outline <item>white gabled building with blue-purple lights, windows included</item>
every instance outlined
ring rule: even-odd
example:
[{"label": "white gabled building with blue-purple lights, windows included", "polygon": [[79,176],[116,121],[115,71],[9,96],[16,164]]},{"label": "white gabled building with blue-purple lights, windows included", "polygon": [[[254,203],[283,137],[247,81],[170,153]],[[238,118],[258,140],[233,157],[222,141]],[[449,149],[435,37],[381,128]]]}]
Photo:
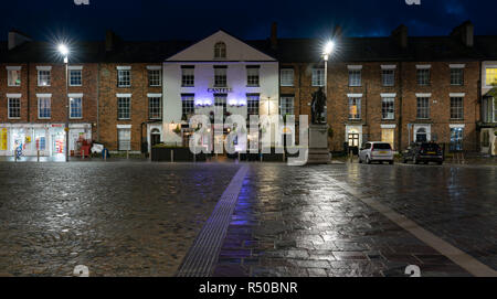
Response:
[{"label": "white gabled building with blue-purple lights, windows included", "polygon": [[245,119],[278,115],[278,83],[276,58],[218,31],[163,63],[162,140],[182,143],[184,130],[179,134],[177,129],[190,116],[210,116],[215,107]]}]

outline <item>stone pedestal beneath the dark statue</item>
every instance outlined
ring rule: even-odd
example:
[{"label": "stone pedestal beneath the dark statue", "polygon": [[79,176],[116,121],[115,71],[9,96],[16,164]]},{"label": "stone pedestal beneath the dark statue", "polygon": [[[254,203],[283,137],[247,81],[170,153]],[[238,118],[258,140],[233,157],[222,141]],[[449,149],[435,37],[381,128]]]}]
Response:
[{"label": "stone pedestal beneath the dark statue", "polygon": [[307,164],[328,164],[330,158],[328,148],[328,125],[310,125]]}]

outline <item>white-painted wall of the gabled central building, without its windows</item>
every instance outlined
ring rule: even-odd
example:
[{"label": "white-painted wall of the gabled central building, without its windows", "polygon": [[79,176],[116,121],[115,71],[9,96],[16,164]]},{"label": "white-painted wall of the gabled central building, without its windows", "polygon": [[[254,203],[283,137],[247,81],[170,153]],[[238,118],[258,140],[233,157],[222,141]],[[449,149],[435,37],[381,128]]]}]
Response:
[{"label": "white-painted wall of the gabled central building, without its windows", "polygon": [[[216,43],[226,46],[225,58],[214,58]],[[194,87],[182,87],[182,67],[194,67]],[[194,95],[195,114],[210,115],[214,111],[214,66],[226,67],[226,111],[232,115],[247,115],[247,94],[258,94],[260,115],[279,114],[278,62],[251,45],[218,31],[211,36],[171,56],[163,63],[163,135],[166,143],[182,141],[172,130],[182,120],[182,95]],[[260,85],[247,86],[247,66],[257,66]]]}]

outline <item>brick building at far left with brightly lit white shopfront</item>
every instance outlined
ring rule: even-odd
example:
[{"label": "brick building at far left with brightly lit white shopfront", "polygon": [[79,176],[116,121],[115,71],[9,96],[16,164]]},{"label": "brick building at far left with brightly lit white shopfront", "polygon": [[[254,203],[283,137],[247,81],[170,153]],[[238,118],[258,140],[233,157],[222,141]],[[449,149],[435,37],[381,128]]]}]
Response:
[{"label": "brick building at far left with brightly lit white shopfront", "polygon": [[[97,122],[97,70],[92,43],[78,43],[67,67],[52,45],[9,33],[0,52],[0,156],[64,156],[70,111],[70,151],[92,140]],[[88,57],[96,58],[95,61]],[[83,63],[84,62],[84,63]],[[67,109],[67,102],[71,108]]]}]

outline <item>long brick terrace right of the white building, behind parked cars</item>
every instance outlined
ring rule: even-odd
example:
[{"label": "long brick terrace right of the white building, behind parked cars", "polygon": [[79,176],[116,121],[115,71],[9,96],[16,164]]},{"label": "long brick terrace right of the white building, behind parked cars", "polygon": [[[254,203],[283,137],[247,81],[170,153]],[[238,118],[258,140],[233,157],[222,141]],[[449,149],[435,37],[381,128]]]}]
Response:
[{"label": "long brick terrace right of the white building, behind parked cars", "polygon": [[[450,36],[345,38],[337,30],[328,62],[330,149],[387,141],[396,150],[433,140],[453,150],[478,149],[480,52],[473,25]],[[325,85],[318,40],[278,39],[282,99],[310,114],[311,94]]]}]

